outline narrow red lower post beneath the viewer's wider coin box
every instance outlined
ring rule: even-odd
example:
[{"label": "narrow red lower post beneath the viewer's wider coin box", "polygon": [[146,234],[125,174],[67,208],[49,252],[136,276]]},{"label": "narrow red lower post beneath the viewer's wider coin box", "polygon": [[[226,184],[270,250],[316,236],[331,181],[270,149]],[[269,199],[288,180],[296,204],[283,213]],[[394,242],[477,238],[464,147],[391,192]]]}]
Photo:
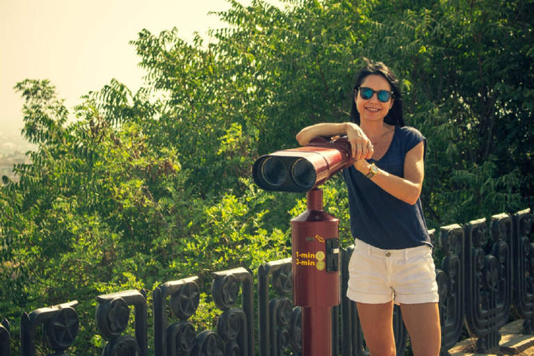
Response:
[{"label": "narrow red lower post beneath the viewer's wider coin box", "polygon": [[302,356],[332,355],[332,308],[302,307]]}]

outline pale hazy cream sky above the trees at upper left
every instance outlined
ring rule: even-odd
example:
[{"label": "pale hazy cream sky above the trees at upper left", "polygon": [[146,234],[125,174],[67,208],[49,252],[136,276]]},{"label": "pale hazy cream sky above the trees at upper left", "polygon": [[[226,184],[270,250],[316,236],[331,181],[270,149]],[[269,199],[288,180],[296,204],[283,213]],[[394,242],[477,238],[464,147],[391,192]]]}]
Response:
[{"label": "pale hazy cream sky above the trees at upper left", "polygon": [[128,42],[142,29],[207,40],[208,29],[225,26],[209,11],[229,8],[226,0],[0,0],[0,131],[22,128],[17,82],[49,79],[71,113],[112,78],[135,92],[145,71]]}]

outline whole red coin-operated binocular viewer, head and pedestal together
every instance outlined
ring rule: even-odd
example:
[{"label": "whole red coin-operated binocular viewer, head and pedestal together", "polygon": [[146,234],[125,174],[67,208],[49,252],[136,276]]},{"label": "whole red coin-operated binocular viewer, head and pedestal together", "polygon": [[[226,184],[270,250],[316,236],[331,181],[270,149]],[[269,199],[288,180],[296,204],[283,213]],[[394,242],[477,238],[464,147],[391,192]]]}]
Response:
[{"label": "whole red coin-operated binocular viewer, head and pedestal together", "polygon": [[317,188],[353,164],[346,138],[314,138],[305,147],[261,156],[252,168],[266,191],[307,192],[307,210],[291,220],[293,304],[302,307],[302,355],[332,355],[332,307],[339,305],[339,219],[323,211]]}]

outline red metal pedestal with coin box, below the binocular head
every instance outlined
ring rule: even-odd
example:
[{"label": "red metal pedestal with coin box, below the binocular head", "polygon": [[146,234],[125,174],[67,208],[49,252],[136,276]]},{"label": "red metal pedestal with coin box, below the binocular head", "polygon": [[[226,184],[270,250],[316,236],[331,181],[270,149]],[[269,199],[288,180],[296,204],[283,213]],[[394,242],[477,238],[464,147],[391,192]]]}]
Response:
[{"label": "red metal pedestal with coin box, below the binocular head", "polygon": [[323,211],[323,191],[291,220],[293,304],[302,307],[302,356],[332,355],[332,307],[339,305],[339,219]]}]

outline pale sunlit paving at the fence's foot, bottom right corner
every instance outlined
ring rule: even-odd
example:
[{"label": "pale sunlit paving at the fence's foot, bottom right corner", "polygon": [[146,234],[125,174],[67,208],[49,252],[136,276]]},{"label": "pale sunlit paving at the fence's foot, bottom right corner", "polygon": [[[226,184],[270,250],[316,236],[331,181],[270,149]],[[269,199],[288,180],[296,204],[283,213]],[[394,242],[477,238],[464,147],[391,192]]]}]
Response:
[{"label": "pale sunlit paving at the fence's foot, bottom right corner", "polygon": [[523,321],[518,320],[501,329],[501,347],[494,353],[475,353],[476,339],[465,339],[449,350],[451,356],[471,356],[471,355],[534,355],[533,352],[525,353],[534,346],[534,335],[521,334]]}]

